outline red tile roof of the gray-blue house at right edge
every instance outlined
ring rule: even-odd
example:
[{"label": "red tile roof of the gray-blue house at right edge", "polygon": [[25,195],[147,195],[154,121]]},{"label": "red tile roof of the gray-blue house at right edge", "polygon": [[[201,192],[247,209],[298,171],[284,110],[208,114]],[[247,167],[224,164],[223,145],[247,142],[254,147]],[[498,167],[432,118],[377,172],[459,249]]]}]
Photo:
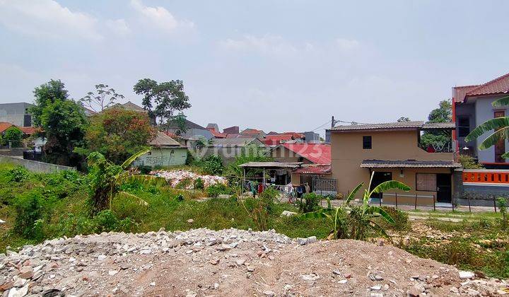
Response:
[{"label": "red tile roof of the gray-blue house at right edge", "polygon": [[504,74],[479,86],[455,87],[455,102],[463,102],[468,97],[507,93],[509,93],[509,74]]}]

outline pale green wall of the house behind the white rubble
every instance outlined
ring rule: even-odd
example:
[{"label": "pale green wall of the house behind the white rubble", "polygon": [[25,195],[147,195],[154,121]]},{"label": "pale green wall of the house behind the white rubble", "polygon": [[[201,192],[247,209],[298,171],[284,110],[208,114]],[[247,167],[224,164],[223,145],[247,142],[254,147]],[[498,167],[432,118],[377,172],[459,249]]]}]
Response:
[{"label": "pale green wall of the house behind the white rubble", "polygon": [[184,165],[187,159],[187,148],[153,148],[150,153],[134,161],[135,166],[172,166]]}]

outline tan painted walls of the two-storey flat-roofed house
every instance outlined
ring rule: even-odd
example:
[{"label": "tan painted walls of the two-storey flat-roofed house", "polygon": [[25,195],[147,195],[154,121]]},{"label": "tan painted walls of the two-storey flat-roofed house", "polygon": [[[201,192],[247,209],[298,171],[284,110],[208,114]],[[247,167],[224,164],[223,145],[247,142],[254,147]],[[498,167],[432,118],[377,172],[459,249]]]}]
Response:
[{"label": "tan painted walls of the two-storey flat-roofed house", "polygon": [[[363,149],[363,136],[372,136],[372,149]],[[332,177],[337,179],[338,192],[343,194],[352,190],[359,182],[368,185],[370,172],[361,168],[364,159],[407,160],[419,161],[452,161],[453,153],[428,153],[418,146],[417,131],[390,132],[333,132],[332,146]],[[399,177],[399,169],[378,169],[381,172],[392,172],[394,180],[405,182],[415,194],[415,173],[450,173],[450,169],[404,169],[404,177]],[[432,192],[417,192],[421,195]],[[358,193],[361,197],[361,192]]]}]

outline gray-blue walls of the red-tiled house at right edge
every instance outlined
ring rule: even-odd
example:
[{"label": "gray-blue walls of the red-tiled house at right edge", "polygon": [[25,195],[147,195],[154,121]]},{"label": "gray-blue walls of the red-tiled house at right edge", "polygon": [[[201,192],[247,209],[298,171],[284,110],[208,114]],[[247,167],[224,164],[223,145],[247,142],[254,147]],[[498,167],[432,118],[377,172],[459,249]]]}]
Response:
[{"label": "gray-blue walls of the red-tiled house at right edge", "polygon": [[[475,119],[476,119],[475,122],[476,122],[476,124],[482,124],[482,123],[486,122],[487,120],[493,119],[493,113],[496,110],[504,110],[505,116],[506,117],[509,116],[507,107],[496,107],[495,108],[495,107],[493,107],[493,105],[491,105],[491,103],[493,103],[493,101],[495,101],[501,97],[502,96],[493,96],[493,97],[482,97],[482,98],[473,99],[473,100],[475,100]],[[476,146],[479,147],[481,145],[482,141],[484,141],[484,139],[486,139],[486,137],[488,137],[489,135],[490,135],[489,133],[486,133],[483,136],[479,137],[477,139]],[[506,140],[505,141],[505,151],[507,152],[508,150],[509,150],[509,142]],[[484,151],[477,150],[477,156],[479,158],[480,163],[495,162],[495,148],[494,148],[494,146],[491,146],[491,148],[488,148]],[[507,160],[506,160],[506,162],[507,162]]]}]

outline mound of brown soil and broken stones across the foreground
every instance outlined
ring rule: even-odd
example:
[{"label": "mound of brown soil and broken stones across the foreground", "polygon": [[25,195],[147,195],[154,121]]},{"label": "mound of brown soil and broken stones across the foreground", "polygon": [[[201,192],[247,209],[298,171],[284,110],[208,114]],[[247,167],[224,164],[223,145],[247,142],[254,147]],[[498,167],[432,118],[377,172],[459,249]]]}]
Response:
[{"label": "mound of brown soil and broken stones across the foreground", "polygon": [[23,296],[497,296],[479,279],[392,246],[195,229],[47,240],[0,254],[0,292]]}]

